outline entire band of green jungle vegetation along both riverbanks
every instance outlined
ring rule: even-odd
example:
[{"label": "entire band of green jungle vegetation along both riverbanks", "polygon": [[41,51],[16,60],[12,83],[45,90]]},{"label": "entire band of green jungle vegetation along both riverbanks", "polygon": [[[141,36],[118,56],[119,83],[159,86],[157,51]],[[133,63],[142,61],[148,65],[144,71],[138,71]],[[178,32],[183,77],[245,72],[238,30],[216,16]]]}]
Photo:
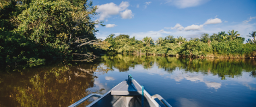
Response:
[{"label": "entire band of green jungle vegetation along both riverbanks", "polygon": [[[5,0],[0,2],[0,63],[17,65],[45,61],[92,61],[95,53],[128,53],[189,57],[238,57],[256,55],[253,39],[241,38],[237,31],[226,34],[202,34],[201,38],[166,36],[156,42],[151,37],[110,34],[106,40],[96,38],[93,21],[97,7],[82,0]],[[81,60],[77,60],[81,61]]]}]

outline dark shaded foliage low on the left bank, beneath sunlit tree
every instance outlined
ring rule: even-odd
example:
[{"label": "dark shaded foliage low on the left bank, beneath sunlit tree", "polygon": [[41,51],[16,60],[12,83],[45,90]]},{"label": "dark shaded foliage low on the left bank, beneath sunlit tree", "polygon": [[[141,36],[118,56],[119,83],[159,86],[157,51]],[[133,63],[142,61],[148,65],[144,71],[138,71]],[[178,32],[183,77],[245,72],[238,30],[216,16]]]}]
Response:
[{"label": "dark shaded foliage low on the left bank, beneath sunlit tree", "polygon": [[[45,59],[65,57],[65,48],[55,48],[54,45],[41,45],[26,40],[24,36],[0,30],[0,61],[1,63],[42,63]],[[69,51],[68,51],[69,52]],[[36,60],[30,60],[36,59]]]}]

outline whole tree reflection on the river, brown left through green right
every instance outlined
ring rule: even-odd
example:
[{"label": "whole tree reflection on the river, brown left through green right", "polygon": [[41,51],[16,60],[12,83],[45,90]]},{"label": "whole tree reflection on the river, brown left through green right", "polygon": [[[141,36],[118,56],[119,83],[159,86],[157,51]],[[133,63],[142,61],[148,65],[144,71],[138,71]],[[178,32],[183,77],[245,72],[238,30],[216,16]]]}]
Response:
[{"label": "whole tree reflection on the river, brown left through green right", "polygon": [[[113,69],[129,71],[135,65],[151,69],[157,65],[168,73],[176,69],[185,72],[239,77],[243,71],[256,77],[255,59],[181,59],[146,55],[103,56],[101,61],[80,65],[53,65],[30,69],[0,70],[0,106],[69,106],[91,94],[97,74]],[[13,71],[14,70],[14,71]],[[104,89],[95,90],[102,93]],[[85,105],[90,101],[84,102]]]}]

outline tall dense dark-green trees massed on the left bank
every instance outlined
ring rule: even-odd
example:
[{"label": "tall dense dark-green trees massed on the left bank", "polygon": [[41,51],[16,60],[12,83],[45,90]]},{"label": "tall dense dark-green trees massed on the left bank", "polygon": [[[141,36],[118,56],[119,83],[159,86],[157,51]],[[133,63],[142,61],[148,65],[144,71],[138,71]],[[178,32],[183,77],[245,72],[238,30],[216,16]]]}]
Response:
[{"label": "tall dense dark-green trees massed on the left bank", "polygon": [[[22,0],[0,2],[0,63],[94,59],[108,47],[96,38],[96,6],[82,0]],[[90,60],[90,59],[88,59]]]}]

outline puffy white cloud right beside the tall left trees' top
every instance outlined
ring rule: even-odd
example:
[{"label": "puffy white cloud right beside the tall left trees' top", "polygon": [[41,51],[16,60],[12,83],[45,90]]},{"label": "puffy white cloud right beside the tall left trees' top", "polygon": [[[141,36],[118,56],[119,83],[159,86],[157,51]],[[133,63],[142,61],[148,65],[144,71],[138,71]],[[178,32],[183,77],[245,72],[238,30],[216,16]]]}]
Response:
[{"label": "puffy white cloud right beside the tall left trees' top", "polygon": [[98,20],[105,20],[106,18],[110,17],[110,15],[117,15],[124,10],[126,11],[127,7],[129,7],[129,2],[127,1],[122,1],[120,5],[116,5],[112,2],[103,5],[98,5],[98,9],[96,10],[96,12],[100,13]]}]

